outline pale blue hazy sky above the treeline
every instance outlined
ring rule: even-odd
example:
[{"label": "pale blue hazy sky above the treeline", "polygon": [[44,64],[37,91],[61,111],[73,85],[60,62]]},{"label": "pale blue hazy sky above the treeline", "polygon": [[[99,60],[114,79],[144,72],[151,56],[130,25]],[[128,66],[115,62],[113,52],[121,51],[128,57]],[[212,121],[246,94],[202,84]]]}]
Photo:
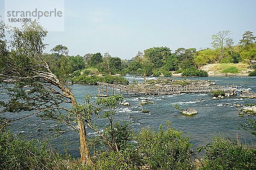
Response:
[{"label": "pale blue hazy sky above the treeline", "polygon": [[244,31],[256,34],[255,6],[256,0],[65,0],[64,31],[48,32],[45,52],[62,44],[69,55],[109,51],[131,59],[157,46],[211,48],[212,34],[223,30],[237,44]]}]

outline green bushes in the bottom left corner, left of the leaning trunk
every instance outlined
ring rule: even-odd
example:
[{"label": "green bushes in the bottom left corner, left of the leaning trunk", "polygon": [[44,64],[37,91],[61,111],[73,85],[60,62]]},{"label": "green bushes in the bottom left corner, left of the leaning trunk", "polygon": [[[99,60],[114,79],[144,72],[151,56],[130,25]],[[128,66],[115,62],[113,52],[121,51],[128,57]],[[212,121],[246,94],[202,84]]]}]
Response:
[{"label": "green bushes in the bottom left corner, left of the leaning trunk", "polygon": [[65,170],[70,156],[47,150],[38,140],[25,141],[10,132],[0,133],[1,170]]}]

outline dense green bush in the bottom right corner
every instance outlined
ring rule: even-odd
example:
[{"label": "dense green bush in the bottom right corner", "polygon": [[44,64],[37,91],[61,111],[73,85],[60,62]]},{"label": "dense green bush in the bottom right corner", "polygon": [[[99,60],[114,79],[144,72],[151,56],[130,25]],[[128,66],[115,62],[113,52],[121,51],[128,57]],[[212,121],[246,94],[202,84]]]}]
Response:
[{"label": "dense green bush in the bottom right corner", "polygon": [[256,169],[256,149],[247,148],[237,141],[213,138],[212,144],[200,148],[206,156],[200,170],[254,170]]}]

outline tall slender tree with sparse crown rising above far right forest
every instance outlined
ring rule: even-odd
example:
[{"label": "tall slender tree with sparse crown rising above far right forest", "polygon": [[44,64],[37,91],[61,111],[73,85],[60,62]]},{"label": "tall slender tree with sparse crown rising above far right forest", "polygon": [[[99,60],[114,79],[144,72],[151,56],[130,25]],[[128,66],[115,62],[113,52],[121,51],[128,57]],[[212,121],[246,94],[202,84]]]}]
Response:
[{"label": "tall slender tree with sparse crown rising above far right forest", "polygon": [[221,59],[223,58],[224,41],[226,40],[226,37],[230,34],[231,32],[229,30],[226,30],[219,31],[216,34],[212,35],[212,46],[213,48],[221,48]]}]

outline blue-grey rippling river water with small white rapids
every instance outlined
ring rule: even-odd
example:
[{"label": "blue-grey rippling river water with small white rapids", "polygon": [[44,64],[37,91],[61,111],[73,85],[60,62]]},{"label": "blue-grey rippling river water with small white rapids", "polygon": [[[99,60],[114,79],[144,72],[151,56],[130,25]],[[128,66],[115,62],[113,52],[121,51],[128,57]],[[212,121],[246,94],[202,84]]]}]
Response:
[{"label": "blue-grey rippling river water with small white rapids", "polygon": [[[133,80],[143,81],[141,77],[133,75],[125,76],[130,82]],[[149,77],[148,79],[155,79]],[[183,79],[173,77],[173,79]],[[198,79],[198,78],[189,78]],[[238,85],[239,90],[250,88],[256,92],[256,77],[204,77],[200,79],[215,80],[217,85]],[[96,85],[70,85],[73,89],[78,102],[82,103],[84,96],[88,93],[95,96],[97,92]],[[4,95],[1,95],[3,97]],[[154,104],[141,106],[142,99],[147,98]],[[211,99],[211,94],[178,94],[165,96],[125,96],[125,101],[131,106],[121,106],[118,108],[115,121],[126,120],[131,123],[131,127],[136,132],[142,127],[150,126],[157,130],[159,125],[165,127],[166,121],[171,121],[171,126],[177,130],[182,130],[185,135],[189,135],[192,148],[196,149],[212,141],[212,137],[222,135],[236,139],[245,140],[250,144],[256,144],[256,138],[250,135],[250,132],[239,129],[240,123],[246,122],[248,116],[239,117],[239,109],[236,104],[256,103],[256,99],[242,99],[238,95],[224,99]],[[174,107],[174,104],[180,104],[182,108],[196,108],[198,114],[195,116],[181,115]],[[150,113],[142,113],[142,109],[147,109]],[[12,117],[12,115],[9,115]],[[106,125],[106,121],[99,119],[97,124],[99,129]],[[42,121],[36,116],[15,122],[10,127],[15,134],[21,133],[27,139],[48,139],[52,147],[58,147],[60,150],[66,148],[70,150],[73,156],[79,156],[79,136],[75,132],[65,133],[59,137],[52,137],[49,128],[62,127],[56,122]],[[95,133],[87,129],[88,136],[93,137]]]}]

